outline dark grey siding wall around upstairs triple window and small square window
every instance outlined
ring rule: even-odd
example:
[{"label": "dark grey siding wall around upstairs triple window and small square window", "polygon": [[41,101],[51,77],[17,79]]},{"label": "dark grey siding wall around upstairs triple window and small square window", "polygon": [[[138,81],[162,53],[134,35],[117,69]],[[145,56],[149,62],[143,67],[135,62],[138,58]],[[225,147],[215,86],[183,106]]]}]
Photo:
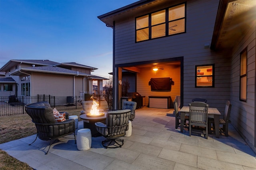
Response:
[{"label": "dark grey siding wall around upstairs triple window and small square window", "polygon": [[[168,3],[170,2],[166,1],[165,7],[170,6]],[[177,3],[179,2],[177,1]],[[213,0],[187,1],[186,33],[144,42],[135,43],[134,17],[116,21],[115,64],[183,57],[184,95],[181,96],[183,98],[182,105],[188,105],[192,98],[202,97],[208,100],[211,107],[217,107],[223,114],[225,102],[229,100],[230,95],[230,56],[205,48],[205,44],[210,44],[212,40],[218,4],[219,1]],[[156,10],[158,8],[146,12]],[[195,88],[195,66],[202,64],[215,64],[214,88]],[[140,93],[139,86],[140,84],[137,82],[137,91]],[[142,95],[146,94],[142,92]],[[175,96],[171,96],[174,100]]]}]

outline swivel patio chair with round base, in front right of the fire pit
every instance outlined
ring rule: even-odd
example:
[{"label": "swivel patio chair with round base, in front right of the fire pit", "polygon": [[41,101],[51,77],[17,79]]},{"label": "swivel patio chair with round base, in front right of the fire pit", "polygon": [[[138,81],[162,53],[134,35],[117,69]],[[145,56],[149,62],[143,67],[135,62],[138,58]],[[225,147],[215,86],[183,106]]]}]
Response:
[{"label": "swivel patio chair with round base, in front right of the fire pit", "polygon": [[102,146],[105,148],[121,148],[124,140],[120,137],[125,135],[129,129],[128,123],[131,117],[131,110],[115,110],[109,111],[106,115],[106,124],[96,122],[96,130],[106,138],[102,141]]}]

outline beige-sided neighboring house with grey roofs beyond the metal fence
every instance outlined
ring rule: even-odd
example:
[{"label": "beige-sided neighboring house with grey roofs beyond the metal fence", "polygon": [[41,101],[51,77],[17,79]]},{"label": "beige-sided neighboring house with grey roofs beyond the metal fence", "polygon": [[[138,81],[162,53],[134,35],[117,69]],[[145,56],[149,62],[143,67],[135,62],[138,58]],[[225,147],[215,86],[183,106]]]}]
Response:
[{"label": "beige-sided neighboring house with grey roofs beyond the metal fence", "polygon": [[75,62],[10,60],[0,68],[5,72],[5,78],[0,78],[0,96],[80,96],[92,93],[93,81],[98,81],[100,92],[102,81],[108,79],[92,75],[96,69]]}]

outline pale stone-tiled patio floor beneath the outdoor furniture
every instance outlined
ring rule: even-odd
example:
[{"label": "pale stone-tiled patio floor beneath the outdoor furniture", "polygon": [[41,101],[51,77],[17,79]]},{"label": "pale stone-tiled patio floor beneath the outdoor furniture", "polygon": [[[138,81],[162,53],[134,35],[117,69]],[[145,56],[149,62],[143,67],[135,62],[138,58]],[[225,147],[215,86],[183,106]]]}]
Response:
[{"label": "pale stone-tiled patio floor beneath the outdoor furniture", "polygon": [[[0,144],[10,156],[36,170],[252,170],[255,153],[229,124],[229,136],[209,134],[208,139],[189,136],[187,129],[175,129],[172,109],[143,107],[136,110],[132,135],[124,138],[122,148],[105,149],[103,137],[92,138],[89,150],[79,151],[74,135],[60,138],[45,155],[49,142],[36,135]],[[80,121],[78,129],[83,128]],[[76,132],[77,132],[76,130]]]}]

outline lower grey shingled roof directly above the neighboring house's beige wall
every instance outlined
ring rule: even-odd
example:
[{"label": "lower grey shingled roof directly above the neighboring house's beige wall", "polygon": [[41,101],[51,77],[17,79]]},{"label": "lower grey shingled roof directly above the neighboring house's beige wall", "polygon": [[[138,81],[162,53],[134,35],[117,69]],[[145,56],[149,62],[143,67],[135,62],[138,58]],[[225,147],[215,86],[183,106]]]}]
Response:
[{"label": "lower grey shingled roof directly above the neighboring house's beige wall", "polygon": [[27,68],[21,68],[20,70],[17,70],[13,72],[11,75],[13,76],[20,76],[25,72],[29,74],[30,72],[44,72],[44,73],[53,73],[53,74],[68,74],[68,75],[77,75],[77,76],[88,76],[92,77],[91,74],[85,74],[82,72],[74,71],[74,70],[69,70],[66,68],[61,68],[57,66],[39,66],[39,67],[27,67]]}]

